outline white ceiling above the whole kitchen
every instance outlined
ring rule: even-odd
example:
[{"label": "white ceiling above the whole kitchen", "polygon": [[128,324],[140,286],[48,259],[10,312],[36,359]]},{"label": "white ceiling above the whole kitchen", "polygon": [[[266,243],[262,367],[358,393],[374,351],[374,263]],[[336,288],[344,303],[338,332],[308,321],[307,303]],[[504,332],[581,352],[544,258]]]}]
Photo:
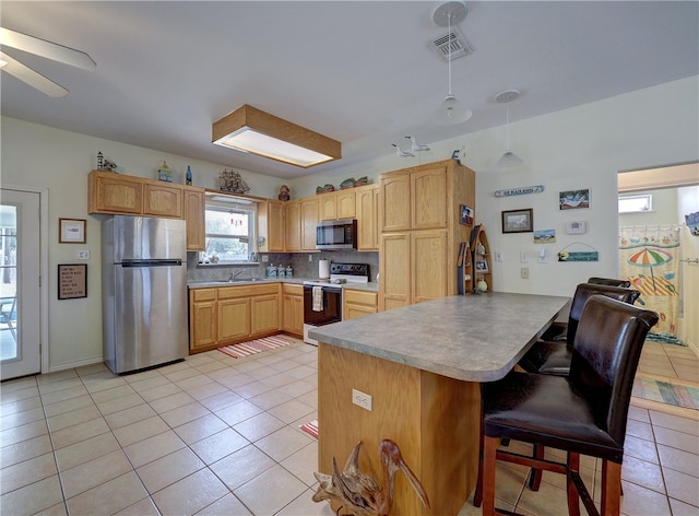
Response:
[{"label": "white ceiling above the whole kitchen", "polygon": [[[510,105],[517,121],[699,74],[697,1],[467,2],[458,28],[474,51],[452,61],[452,90],[473,118],[434,126],[448,91],[447,63],[428,47],[447,33],[433,22],[440,4],[3,0],[2,26],[83,50],[97,69],[5,48],[70,94],[50,98],[1,73],[1,109],[293,178],[405,149],[405,136],[430,143],[500,126],[503,90],[523,93]],[[303,169],[214,146],[212,124],[242,104],[341,141],[343,159]]]}]

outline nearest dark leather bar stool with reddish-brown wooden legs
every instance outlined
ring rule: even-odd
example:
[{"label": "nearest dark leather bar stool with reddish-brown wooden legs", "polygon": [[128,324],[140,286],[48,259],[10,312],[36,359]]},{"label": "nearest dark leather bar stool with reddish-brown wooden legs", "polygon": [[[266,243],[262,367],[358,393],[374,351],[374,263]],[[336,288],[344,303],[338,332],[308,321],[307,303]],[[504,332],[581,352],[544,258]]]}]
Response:
[{"label": "nearest dark leather bar stool with reddish-brown wooden legs", "polygon": [[[601,513],[618,515],[626,421],[643,341],[657,314],[592,295],[582,310],[568,377],[510,373],[483,384],[483,514],[495,513],[496,459],[566,474],[568,512],[599,515],[580,455],[602,459]],[[499,450],[511,438],[567,452],[565,464]],[[475,503],[475,501],[474,501]]]}]

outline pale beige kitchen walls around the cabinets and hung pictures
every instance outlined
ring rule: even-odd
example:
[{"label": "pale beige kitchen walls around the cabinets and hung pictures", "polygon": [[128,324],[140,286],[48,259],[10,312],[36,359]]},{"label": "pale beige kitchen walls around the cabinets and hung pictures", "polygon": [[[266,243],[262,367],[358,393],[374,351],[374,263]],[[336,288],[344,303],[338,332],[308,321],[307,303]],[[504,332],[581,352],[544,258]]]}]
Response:
[{"label": "pale beige kitchen walls around the cabinets and hung pictures", "polygon": [[[313,195],[316,186],[339,184],[347,177],[379,174],[418,163],[448,159],[463,148],[462,162],[476,171],[476,221],[484,224],[493,250],[505,260],[493,263],[493,289],[508,292],[569,295],[590,275],[613,275],[617,271],[617,172],[699,161],[699,78],[694,77],[641,90],[593,104],[553,113],[510,125],[512,150],[524,160],[517,171],[496,173],[490,165],[505,151],[505,128],[463,134],[441,142],[424,142],[430,151],[415,159],[399,159],[387,142],[387,154],[362,164],[348,165],[332,175],[306,176],[289,181],[294,197]],[[518,102],[526,102],[524,96]],[[513,106],[516,107],[516,106]],[[477,116],[475,114],[474,116]],[[86,214],[87,173],[95,155],[123,167],[125,173],[155,178],[162,160],[181,174],[192,165],[194,184],[216,186],[223,165],[189,161],[183,156],[126,145],[88,136],[37,126],[2,117],[1,180],[15,186],[49,190],[49,360],[52,370],[102,360],[102,310],[99,273],[99,219]],[[464,126],[467,128],[467,126]],[[402,134],[401,134],[402,137]],[[346,149],[348,149],[347,145]],[[346,152],[345,152],[346,154]],[[242,172],[242,171],[241,171]],[[275,197],[279,178],[245,173],[250,194]],[[497,199],[497,189],[544,185],[543,194]],[[558,192],[590,188],[588,210],[560,212]],[[599,262],[538,263],[537,246],[531,234],[500,233],[501,210],[533,208],[536,230],[554,228],[557,242],[547,246],[550,255],[572,242],[583,241],[600,251]],[[57,244],[58,218],[87,219],[90,297],[56,301],[56,266],[74,261],[76,247]],[[565,235],[565,223],[584,220],[585,235]],[[82,248],[82,247],[81,247]],[[519,257],[530,256],[530,280],[520,279]]]}]

